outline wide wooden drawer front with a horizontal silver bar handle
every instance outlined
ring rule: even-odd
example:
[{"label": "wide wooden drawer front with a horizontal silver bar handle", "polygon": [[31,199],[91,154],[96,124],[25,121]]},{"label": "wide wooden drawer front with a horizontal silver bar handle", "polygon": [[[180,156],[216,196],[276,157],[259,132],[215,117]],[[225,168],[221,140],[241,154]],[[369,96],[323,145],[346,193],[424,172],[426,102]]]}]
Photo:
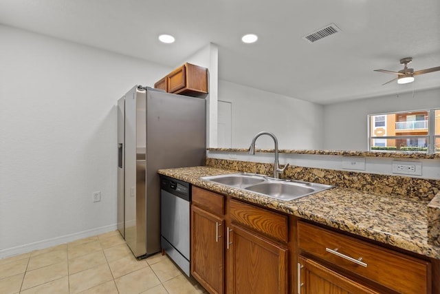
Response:
[{"label": "wide wooden drawer front with a horizontal silver bar handle", "polygon": [[298,246],[399,293],[430,293],[429,262],[304,222],[298,222]]}]

